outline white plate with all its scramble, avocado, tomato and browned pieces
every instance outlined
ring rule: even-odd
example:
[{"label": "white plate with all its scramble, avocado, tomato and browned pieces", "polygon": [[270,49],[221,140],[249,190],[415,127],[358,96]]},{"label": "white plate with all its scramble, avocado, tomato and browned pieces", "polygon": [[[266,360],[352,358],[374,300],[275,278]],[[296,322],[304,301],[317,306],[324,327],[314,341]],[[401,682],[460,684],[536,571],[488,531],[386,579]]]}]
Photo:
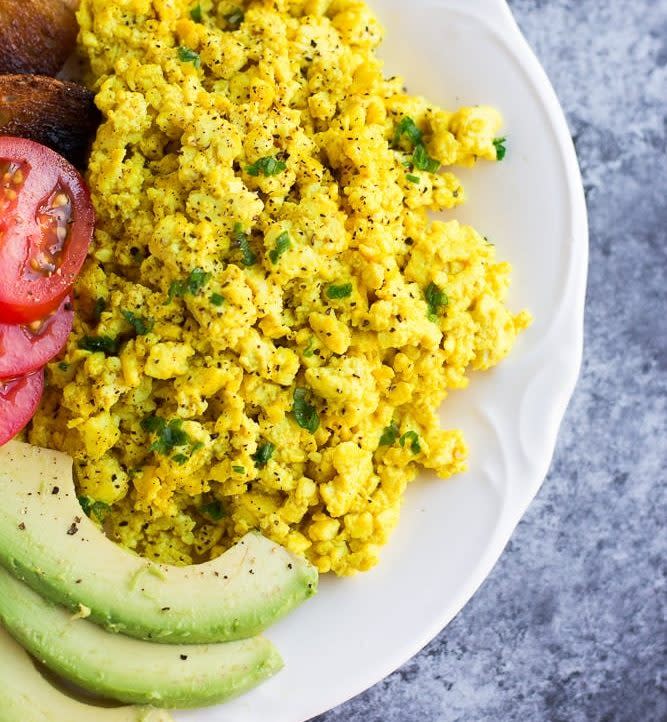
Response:
[{"label": "white plate with all its scramble, avocado, tomato and browned pieces", "polygon": [[[562,111],[502,0],[8,1],[0,707],[96,714],[13,637],[118,722],[269,677],[178,719],[309,719],[437,634],[546,474],[587,256]],[[88,88],[39,74],[54,29]]]}]

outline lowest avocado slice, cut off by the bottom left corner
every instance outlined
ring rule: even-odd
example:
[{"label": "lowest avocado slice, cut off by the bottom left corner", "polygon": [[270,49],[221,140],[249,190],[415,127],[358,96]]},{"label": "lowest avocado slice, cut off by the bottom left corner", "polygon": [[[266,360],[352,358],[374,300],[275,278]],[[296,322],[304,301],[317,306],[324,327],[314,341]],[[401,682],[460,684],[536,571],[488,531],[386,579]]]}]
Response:
[{"label": "lowest avocado slice, cut off by the bottom left corner", "polygon": [[162,710],[96,707],[50,685],[30,657],[0,627],[0,722],[173,722]]}]

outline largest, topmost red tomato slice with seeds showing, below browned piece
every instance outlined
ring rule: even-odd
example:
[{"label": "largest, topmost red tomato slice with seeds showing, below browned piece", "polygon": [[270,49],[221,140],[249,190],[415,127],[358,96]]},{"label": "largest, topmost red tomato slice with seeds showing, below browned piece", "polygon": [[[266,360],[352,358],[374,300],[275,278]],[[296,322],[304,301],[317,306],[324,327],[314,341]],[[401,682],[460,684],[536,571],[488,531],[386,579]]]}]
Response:
[{"label": "largest, topmost red tomato slice with seeds showing, below browned piece", "polygon": [[0,137],[0,320],[58,308],[86,258],[95,214],[74,166],[39,143]]}]

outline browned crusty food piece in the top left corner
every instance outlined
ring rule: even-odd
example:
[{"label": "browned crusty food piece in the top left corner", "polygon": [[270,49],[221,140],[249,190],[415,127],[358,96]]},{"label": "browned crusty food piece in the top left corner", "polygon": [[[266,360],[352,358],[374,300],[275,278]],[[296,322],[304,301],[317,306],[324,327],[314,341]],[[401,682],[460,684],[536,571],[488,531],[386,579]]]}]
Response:
[{"label": "browned crusty food piece in the top left corner", "polygon": [[56,75],[76,45],[65,0],[0,0],[0,73]]}]

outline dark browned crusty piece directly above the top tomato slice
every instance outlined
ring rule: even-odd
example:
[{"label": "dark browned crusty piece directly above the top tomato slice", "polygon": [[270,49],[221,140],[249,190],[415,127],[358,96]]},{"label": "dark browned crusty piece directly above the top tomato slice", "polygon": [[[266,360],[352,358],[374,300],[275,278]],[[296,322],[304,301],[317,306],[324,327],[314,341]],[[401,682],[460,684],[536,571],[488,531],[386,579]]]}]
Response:
[{"label": "dark browned crusty piece directly above the top tomato slice", "polygon": [[101,119],[93,98],[82,85],[55,78],[0,76],[0,135],[35,140],[81,168]]}]

